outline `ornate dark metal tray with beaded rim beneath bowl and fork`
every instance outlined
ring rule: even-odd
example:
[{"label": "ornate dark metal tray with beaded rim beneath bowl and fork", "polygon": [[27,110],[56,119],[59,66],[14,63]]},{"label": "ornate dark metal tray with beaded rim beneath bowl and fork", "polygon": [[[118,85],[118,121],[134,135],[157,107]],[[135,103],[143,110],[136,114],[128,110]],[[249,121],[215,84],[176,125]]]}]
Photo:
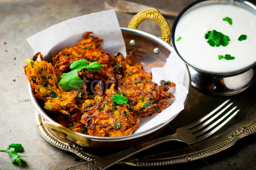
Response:
[{"label": "ornate dark metal tray with beaded rim beneath bowl and fork", "polygon": [[[167,142],[145,150],[137,155],[130,157],[119,164],[129,164],[132,166],[160,166],[168,164],[177,164],[218,153],[235,144],[244,136],[250,135],[256,131],[256,95],[253,86],[241,94],[229,97],[241,110],[238,115],[223,127],[221,131],[210,138],[192,144],[186,145],[180,142]],[[227,97],[207,96],[192,88],[189,100],[185,109],[161,132],[157,137],[173,133],[177,127],[182,127],[212,111],[221,104]],[[92,160],[96,157],[106,156],[118,152],[118,149],[96,149],[81,147],[70,141],[61,141],[55,138],[46,127],[44,119],[36,113],[36,125],[41,135],[55,147],[75,153],[84,160]]]}]

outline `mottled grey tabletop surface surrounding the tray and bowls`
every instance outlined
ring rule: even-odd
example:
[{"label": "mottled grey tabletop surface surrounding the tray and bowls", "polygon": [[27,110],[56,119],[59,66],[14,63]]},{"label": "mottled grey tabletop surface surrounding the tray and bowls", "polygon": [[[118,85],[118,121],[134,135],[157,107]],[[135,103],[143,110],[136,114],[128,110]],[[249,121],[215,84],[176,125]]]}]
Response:
[{"label": "mottled grey tabletop surface surrounding the tray and bowls", "polygon": [[[136,0],[133,0],[136,1]],[[181,11],[193,0],[137,0],[157,8]],[[252,1],[254,3],[254,1]],[[84,160],[73,153],[58,149],[44,140],[35,126],[35,108],[30,101],[24,60],[33,51],[26,38],[83,14],[106,10],[104,0],[0,0],[0,150],[11,143],[20,143],[24,152],[20,155],[22,166],[12,164],[6,152],[0,152],[0,170],[61,170]],[[116,12],[121,27],[127,27],[134,14]],[[173,19],[167,19],[172,26]],[[140,30],[156,36],[159,26],[145,21]],[[91,31],[91,30],[85,30]],[[193,170],[255,170],[256,134],[239,140],[233,147],[205,159],[163,167],[130,167],[116,165],[110,169],[193,169]]]}]

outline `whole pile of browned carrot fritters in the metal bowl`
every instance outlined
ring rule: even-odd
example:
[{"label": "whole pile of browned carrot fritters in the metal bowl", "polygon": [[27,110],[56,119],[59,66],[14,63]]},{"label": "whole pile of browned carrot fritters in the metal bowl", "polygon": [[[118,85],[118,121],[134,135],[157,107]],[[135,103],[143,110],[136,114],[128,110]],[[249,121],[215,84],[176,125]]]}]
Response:
[{"label": "whole pile of browned carrot fritters in the metal bowl", "polygon": [[[52,63],[44,61],[38,52],[26,60],[25,74],[35,97],[44,102],[44,109],[54,113],[53,119],[61,125],[93,136],[130,135],[139,127],[139,117],[160,113],[170,105],[167,99],[174,95],[169,88],[175,87],[175,83],[151,82],[152,75],[143,70],[143,65],[129,55],[125,59],[122,54],[109,55],[98,44],[103,40],[89,34],[92,32],[85,33],[77,45],[53,56]],[[75,89],[73,83],[73,90],[65,91],[59,84],[61,75],[69,72],[70,64],[79,59],[86,59],[88,64],[97,61],[103,66],[94,71],[81,69],[81,88]],[[113,96],[122,96],[126,102],[117,102]]]}]

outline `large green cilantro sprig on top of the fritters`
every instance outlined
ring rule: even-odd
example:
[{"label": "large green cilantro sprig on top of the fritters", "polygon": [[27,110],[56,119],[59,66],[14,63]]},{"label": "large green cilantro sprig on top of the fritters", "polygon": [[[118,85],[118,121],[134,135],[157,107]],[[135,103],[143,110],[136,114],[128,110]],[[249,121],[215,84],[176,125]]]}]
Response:
[{"label": "large green cilantro sprig on top of the fritters", "polygon": [[70,64],[71,71],[61,75],[60,84],[65,91],[79,89],[83,85],[83,80],[79,78],[78,72],[86,68],[89,71],[95,71],[102,68],[99,62],[91,62],[89,65],[86,59],[79,59]]}]

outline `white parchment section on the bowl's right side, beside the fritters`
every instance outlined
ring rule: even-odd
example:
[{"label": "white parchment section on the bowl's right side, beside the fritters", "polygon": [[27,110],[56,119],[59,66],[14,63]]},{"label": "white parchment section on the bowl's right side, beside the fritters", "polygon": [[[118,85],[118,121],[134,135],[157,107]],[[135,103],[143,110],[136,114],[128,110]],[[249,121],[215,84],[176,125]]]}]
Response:
[{"label": "white parchment section on the bowl's right side, beside the fritters", "polygon": [[184,101],[189,93],[188,89],[183,85],[185,75],[184,63],[174,51],[167,58],[166,64],[163,67],[152,68],[151,72],[153,82],[160,84],[160,80],[170,80],[176,84],[176,87],[170,89],[172,94],[175,95],[175,98],[168,100],[172,105],[161,113],[140,119],[140,127],[134,133],[143,132],[174,118],[177,113],[180,113],[184,109]]}]

